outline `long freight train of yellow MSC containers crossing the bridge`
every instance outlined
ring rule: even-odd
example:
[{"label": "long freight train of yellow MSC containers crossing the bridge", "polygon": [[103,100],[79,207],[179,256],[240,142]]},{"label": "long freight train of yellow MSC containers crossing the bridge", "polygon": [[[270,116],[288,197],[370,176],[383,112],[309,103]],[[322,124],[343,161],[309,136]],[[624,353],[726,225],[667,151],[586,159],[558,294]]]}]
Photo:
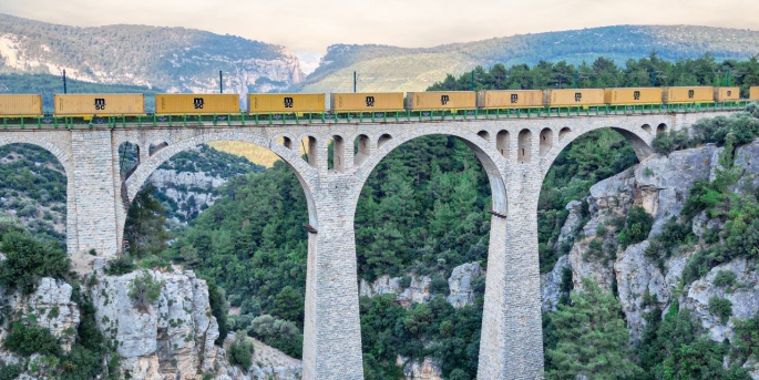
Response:
[{"label": "long freight train of yellow MSC containers crossing the bridge", "polygon": [[[331,93],[329,109],[325,94],[248,94],[248,109],[239,109],[237,94],[156,94],[155,113],[145,112],[143,94],[55,94],[54,113],[42,112],[41,95],[0,95],[0,117],[8,120],[44,119],[48,123],[59,117],[92,123],[105,121],[203,120],[214,115],[218,120],[255,117],[256,121],[291,120],[295,117],[330,119],[335,115],[369,113],[387,117],[408,115],[478,115],[526,113],[552,115],[566,112],[676,111],[702,110],[759,101],[759,86],[750,89],[749,100],[740,99],[739,88],[671,86],[564,90],[493,90],[493,91],[429,91],[392,93]],[[226,115],[226,116],[225,116]],[[289,119],[288,119],[289,117]],[[214,117],[214,121],[217,119]]]}]

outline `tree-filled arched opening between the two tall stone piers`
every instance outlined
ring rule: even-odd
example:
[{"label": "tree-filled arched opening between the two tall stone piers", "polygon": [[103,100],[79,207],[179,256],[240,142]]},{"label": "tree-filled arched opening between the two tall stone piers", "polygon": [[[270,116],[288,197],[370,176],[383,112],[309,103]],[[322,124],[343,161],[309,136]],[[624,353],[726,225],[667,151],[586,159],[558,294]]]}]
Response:
[{"label": "tree-filled arched opening between the two tall stone piers", "polygon": [[[393,142],[381,161],[365,163],[376,166],[356,210],[359,295],[362,341],[372,342],[365,345],[366,368],[379,378],[432,359],[407,349],[430,341],[441,345],[433,359],[451,363],[438,376],[476,377],[472,355],[479,352],[489,229],[491,218],[502,223],[506,214],[505,187],[490,175],[495,164],[481,155],[479,142],[428,135]],[[471,323],[453,332],[461,319]],[[432,332],[411,328],[404,347],[393,347],[389,338],[403,321]],[[453,333],[469,358],[453,359],[447,338]]]}]

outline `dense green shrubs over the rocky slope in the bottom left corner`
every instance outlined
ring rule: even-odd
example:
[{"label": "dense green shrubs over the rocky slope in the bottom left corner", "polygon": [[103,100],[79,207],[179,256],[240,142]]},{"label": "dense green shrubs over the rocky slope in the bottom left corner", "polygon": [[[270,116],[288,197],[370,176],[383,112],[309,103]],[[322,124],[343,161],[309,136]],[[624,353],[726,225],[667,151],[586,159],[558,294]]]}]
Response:
[{"label": "dense green shrubs over the rocky slope in the bottom left corner", "polygon": [[[0,214],[0,251],[6,259],[0,261],[0,286],[4,290],[20,290],[29,296],[35,290],[42,277],[65,280],[73,286],[72,301],[80,308],[80,325],[75,331],[66,330],[66,337],[55,337],[48,327],[37,323],[38,317],[11,314],[2,308],[0,322],[8,329],[2,347],[22,358],[32,353],[41,357],[18,364],[0,361],[0,376],[13,379],[23,370],[40,378],[63,379],[117,379],[119,356],[115,348],[98,329],[95,309],[75,275],[70,274],[70,260],[65,251],[49,240],[37,240],[21,223]],[[57,308],[40,310],[49,318],[59,312]],[[63,339],[72,342],[71,350],[61,348]]]}]

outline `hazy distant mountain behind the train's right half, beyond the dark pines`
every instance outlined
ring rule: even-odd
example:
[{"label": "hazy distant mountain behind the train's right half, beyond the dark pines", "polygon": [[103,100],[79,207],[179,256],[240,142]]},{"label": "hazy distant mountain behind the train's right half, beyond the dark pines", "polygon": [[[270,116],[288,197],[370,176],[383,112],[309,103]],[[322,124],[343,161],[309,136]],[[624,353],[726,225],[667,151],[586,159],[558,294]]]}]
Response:
[{"label": "hazy distant mountain behind the train's right half, beyond the dark pines", "polygon": [[666,60],[697,58],[710,52],[718,60],[759,54],[759,31],[690,25],[618,25],[522,34],[447,44],[429,49],[337,44],[319,68],[293,86],[302,92],[423,91],[445,74],[461,74],[476,65],[527,63],[541,60],[592,63],[603,55],[618,65],[652,50]]}]

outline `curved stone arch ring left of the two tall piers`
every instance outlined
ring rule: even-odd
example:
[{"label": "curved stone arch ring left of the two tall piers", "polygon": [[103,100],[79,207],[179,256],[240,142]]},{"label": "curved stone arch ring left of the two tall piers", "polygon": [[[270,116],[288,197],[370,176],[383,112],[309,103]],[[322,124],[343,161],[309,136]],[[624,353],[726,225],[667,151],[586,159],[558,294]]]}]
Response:
[{"label": "curved stone arch ring left of the two tall piers", "polygon": [[[315,188],[312,183],[316,175],[314,174],[315,168],[308,163],[300,158],[298,152],[289,150],[284,145],[270,143],[269,140],[264,136],[249,132],[240,131],[219,131],[219,132],[207,132],[207,131],[192,131],[193,135],[185,136],[185,138],[172,142],[167,147],[161,150],[155,155],[148,157],[142,162],[134,173],[126,178],[122,184],[122,202],[124,209],[129,207],[134,197],[136,196],[140,188],[145,184],[150,175],[158,168],[164,162],[173,157],[174,155],[195,147],[201,144],[207,144],[215,141],[238,141],[244,143],[252,143],[265,148],[268,148],[274,154],[279,156],[295,173],[300,185],[302,186],[304,193],[306,194],[306,201],[308,206],[308,218],[309,224],[314,227],[318,226],[318,218],[316,214],[316,205],[311,188]],[[124,212],[125,215],[125,212]],[[124,230],[124,223],[126,222],[125,216],[121,217],[119,220],[119,239],[121,240]]]}]

